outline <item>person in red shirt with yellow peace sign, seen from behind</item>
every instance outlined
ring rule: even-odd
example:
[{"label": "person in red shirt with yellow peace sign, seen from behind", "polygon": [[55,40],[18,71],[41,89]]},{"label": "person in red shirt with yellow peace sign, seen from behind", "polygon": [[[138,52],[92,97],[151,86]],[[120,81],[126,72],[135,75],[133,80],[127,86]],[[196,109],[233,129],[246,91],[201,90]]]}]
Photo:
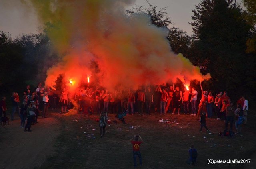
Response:
[{"label": "person in red shirt with yellow peace sign, seen from behind", "polygon": [[[138,138],[140,138],[141,141],[138,141]],[[134,139],[134,140],[133,140]],[[134,135],[134,137],[131,139],[132,147],[133,147],[133,161],[134,161],[134,167],[137,167],[137,156],[140,159],[140,165],[142,165],[142,157],[140,154],[140,144],[143,142],[140,135]]]}]

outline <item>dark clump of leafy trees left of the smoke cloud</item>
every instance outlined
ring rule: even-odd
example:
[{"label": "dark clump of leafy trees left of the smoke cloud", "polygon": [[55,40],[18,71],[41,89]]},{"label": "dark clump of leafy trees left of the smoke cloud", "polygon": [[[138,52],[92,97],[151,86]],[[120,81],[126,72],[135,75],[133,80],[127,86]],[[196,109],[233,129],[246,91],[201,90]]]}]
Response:
[{"label": "dark clump of leafy trees left of the smoke cloud", "polygon": [[22,35],[12,39],[0,31],[0,94],[36,85],[58,61],[45,33]]}]

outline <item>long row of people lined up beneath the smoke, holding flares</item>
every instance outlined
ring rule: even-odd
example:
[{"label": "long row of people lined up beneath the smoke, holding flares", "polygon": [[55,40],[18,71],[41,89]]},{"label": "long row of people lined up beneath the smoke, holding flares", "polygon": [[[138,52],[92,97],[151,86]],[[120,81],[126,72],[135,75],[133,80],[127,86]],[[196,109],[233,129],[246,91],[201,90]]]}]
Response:
[{"label": "long row of people lined up beneath the smoke, holding flares", "polygon": [[[24,123],[29,116],[28,108],[33,108],[35,117],[32,122],[37,123],[38,116],[47,118],[49,106],[56,108],[57,101],[61,106],[60,113],[66,113],[73,105],[78,107],[82,113],[98,113],[108,112],[118,114],[124,110],[128,110],[130,114],[146,114],[152,112],[164,115],[167,113],[190,114],[191,116],[201,116],[202,113],[206,118],[217,116],[217,120],[225,120],[226,129],[230,123],[232,130],[233,122],[238,120],[238,116],[243,116],[244,124],[247,123],[248,100],[243,96],[236,102],[236,109],[233,106],[227,92],[220,92],[213,96],[212,92],[204,91],[200,83],[202,97],[199,101],[198,91],[194,87],[191,90],[183,86],[175,84],[171,86],[144,86],[139,87],[137,91],[131,89],[119,89],[114,92],[109,92],[105,88],[96,86],[95,88],[81,86],[76,94],[69,94],[68,88],[63,87],[59,92],[59,97],[56,95],[56,90],[52,88],[44,88],[39,83],[32,90],[30,85],[26,86],[23,92],[22,100],[17,92],[13,92],[11,96],[12,110],[11,120],[14,120],[15,112],[19,112],[21,118],[21,127],[25,127]],[[6,116],[6,97],[3,97],[0,102],[0,115]],[[199,103],[199,104],[198,104]],[[242,112],[239,112],[239,109]],[[206,127],[204,117],[202,118],[202,126]],[[238,127],[238,125],[235,125]],[[26,128],[25,128],[26,129]],[[240,135],[242,135],[240,133]]]}]

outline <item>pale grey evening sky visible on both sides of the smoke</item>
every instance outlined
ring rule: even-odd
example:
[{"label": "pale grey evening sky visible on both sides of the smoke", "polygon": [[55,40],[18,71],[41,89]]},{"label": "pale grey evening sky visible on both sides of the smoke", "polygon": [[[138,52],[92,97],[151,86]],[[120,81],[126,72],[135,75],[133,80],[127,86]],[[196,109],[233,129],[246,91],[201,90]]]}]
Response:
[{"label": "pale grey evening sky visible on both sides of the smoke", "polygon": [[[167,7],[168,16],[176,28],[180,28],[192,34],[192,9],[201,0],[149,0],[150,4],[156,5],[158,9]],[[236,0],[241,3],[241,0]],[[15,5],[14,5],[15,4]],[[145,0],[136,0],[136,5],[147,5]],[[132,7],[131,7],[132,8]],[[0,0],[0,30],[9,32],[12,37],[22,33],[38,33],[40,24],[32,8],[28,10],[20,0]],[[171,26],[172,27],[172,26]]]}]

